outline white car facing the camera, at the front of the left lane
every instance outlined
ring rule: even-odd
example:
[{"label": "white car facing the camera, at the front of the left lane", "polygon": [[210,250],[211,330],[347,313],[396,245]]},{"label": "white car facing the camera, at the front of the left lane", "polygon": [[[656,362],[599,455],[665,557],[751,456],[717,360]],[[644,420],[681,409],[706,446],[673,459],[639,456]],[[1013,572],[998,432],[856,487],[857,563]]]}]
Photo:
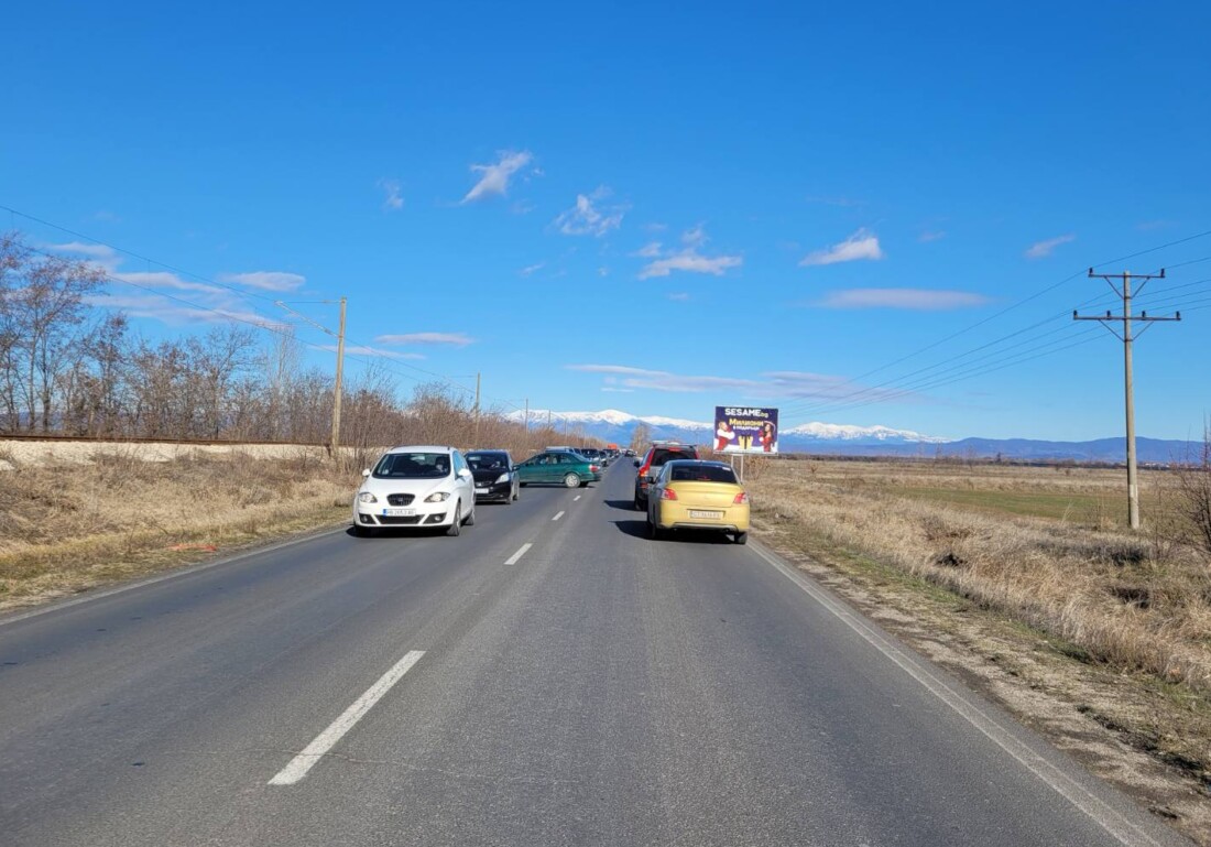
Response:
[{"label": "white car facing the camera, at the front of the left lane", "polygon": [[475,523],[475,479],[453,447],[392,447],[354,496],[354,534],[383,527],[446,527],[457,536]]}]

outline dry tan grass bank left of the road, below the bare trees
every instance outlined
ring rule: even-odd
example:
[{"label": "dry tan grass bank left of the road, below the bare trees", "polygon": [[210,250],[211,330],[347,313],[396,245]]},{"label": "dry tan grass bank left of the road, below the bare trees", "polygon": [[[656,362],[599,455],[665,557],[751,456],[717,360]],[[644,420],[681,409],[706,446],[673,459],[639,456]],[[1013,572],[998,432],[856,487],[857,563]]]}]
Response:
[{"label": "dry tan grass bank left of the road, below the bare trees", "polygon": [[161,462],[119,446],[88,459],[8,457],[16,469],[0,471],[0,608],[338,522],[356,485],[302,448],[271,459],[195,451]]}]

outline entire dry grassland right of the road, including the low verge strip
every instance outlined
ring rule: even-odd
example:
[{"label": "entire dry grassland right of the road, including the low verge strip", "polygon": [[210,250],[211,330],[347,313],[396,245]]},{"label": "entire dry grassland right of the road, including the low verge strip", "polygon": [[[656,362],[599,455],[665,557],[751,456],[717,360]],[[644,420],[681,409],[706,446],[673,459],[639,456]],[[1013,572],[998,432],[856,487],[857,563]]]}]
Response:
[{"label": "entire dry grassland right of the road, including the low verge strip", "polygon": [[1112,469],[751,459],[746,485],[758,538],[1027,717],[1063,722],[1017,709],[1046,689],[1186,773],[1189,795],[1154,811],[1211,826],[1209,459],[1142,474],[1138,533]]}]

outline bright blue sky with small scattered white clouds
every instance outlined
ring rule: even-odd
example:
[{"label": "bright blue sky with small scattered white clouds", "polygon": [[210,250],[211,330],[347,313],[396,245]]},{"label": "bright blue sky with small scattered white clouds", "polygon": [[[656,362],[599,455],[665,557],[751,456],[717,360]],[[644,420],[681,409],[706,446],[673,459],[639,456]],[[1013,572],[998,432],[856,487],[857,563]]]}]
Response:
[{"label": "bright blue sky with small scattered white clouds", "polygon": [[0,225],[149,337],[346,296],[349,372],[402,390],[953,437],[1121,433],[1071,310],[1150,251],[1100,267],[1172,267],[1140,307],[1186,316],[1136,345],[1137,429],[1201,434],[1206,4],[413,6],[6,11]]}]

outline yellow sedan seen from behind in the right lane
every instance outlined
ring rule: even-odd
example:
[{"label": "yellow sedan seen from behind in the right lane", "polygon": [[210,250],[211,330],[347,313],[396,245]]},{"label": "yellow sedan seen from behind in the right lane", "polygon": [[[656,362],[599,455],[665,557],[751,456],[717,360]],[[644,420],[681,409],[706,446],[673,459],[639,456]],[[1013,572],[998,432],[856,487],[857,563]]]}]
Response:
[{"label": "yellow sedan seen from behind in the right lane", "polygon": [[714,530],[748,542],[748,493],[723,462],[677,459],[665,464],[648,493],[648,536],[670,530]]}]

